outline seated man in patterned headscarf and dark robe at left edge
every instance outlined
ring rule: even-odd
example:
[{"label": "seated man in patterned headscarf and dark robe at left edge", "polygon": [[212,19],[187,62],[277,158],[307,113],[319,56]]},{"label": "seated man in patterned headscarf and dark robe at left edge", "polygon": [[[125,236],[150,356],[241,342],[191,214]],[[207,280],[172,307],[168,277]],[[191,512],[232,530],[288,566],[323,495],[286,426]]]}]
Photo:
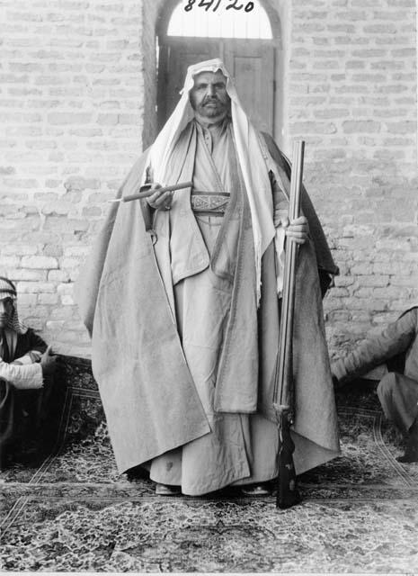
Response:
[{"label": "seated man in patterned headscarf and dark robe at left edge", "polygon": [[[0,276],[0,465],[39,427],[55,370],[50,347],[26,328],[16,310],[16,288]],[[24,392],[23,392],[24,391]],[[33,392],[27,392],[33,391]]]}]

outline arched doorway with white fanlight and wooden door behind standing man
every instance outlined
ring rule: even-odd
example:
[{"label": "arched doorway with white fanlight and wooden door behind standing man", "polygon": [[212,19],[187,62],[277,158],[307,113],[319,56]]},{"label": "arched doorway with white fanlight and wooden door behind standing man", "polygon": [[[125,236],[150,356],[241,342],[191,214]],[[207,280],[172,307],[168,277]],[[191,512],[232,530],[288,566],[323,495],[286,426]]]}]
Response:
[{"label": "arched doorway with white fanlight and wooden door behind standing man", "polygon": [[262,3],[254,2],[251,13],[225,9],[215,13],[198,7],[186,12],[185,4],[171,4],[157,31],[158,128],[180,98],[187,67],[221,58],[235,78],[245,112],[257,128],[273,134],[278,31]]}]

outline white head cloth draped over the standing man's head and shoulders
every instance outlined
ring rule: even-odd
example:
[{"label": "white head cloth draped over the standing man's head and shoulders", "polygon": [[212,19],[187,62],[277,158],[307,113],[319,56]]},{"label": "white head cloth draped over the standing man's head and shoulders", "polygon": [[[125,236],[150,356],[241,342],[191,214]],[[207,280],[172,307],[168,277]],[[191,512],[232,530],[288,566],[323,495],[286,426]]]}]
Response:
[{"label": "white head cloth draped over the standing man's head and shoulders", "polygon": [[[194,85],[194,76],[200,72],[220,70],[227,78],[227,94],[231,99],[233,133],[236,141],[236,153],[244,178],[245,190],[251,209],[255,266],[257,274],[257,302],[261,292],[261,259],[266,247],[275,237],[272,220],[272,195],[269,170],[262,150],[260,135],[253,128],[236,94],[236,87],[222,60],[215,58],[199,62],[187,70],[182,97],[163,130],[149,150],[147,166],[155,182],[165,183],[168,159],[182,130],[194,117],[189,93]],[[166,184],[166,183],[165,183]],[[172,184],[172,183],[170,183]]]}]

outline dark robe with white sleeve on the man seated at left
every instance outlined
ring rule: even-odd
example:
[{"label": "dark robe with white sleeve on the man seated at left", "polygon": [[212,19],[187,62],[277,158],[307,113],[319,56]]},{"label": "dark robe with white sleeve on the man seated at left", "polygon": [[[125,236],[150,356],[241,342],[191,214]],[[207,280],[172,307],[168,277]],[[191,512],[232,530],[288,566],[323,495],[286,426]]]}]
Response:
[{"label": "dark robe with white sleeve on the man seated at left", "polygon": [[[0,455],[21,439],[27,419],[36,426],[42,412],[44,380],[39,360],[47,345],[31,329],[4,330],[0,343]],[[30,392],[27,392],[30,391]]]}]

